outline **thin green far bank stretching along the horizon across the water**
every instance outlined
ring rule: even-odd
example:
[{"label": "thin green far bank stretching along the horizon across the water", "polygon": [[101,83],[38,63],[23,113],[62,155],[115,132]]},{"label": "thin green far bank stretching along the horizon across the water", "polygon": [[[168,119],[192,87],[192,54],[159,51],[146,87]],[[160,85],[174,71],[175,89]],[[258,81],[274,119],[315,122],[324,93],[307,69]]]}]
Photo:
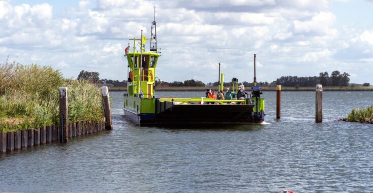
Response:
[{"label": "thin green far bank stretching along the horizon across the water", "polygon": [[[216,86],[210,87],[188,87],[188,86],[176,86],[176,87],[156,87],[156,91],[204,91],[206,88],[217,89]],[[261,86],[263,91],[276,91],[276,87]],[[251,87],[246,88],[251,89]],[[316,85],[314,87],[299,87],[298,89],[294,87],[282,86],[283,91],[315,91]],[[109,87],[110,91],[127,91],[127,87]],[[325,86],[324,91],[373,91],[373,86]]]}]

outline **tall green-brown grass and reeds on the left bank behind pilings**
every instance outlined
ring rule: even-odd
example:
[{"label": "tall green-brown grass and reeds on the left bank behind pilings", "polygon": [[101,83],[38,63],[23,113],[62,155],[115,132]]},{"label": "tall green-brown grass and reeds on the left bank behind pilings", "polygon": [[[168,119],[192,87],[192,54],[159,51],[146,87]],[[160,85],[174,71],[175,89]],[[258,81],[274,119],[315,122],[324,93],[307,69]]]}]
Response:
[{"label": "tall green-brown grass and reeds on the left bank behind pilings", "polygon": [[84,80],[64,79],[60,70],[0,63],[0,133],[59,123],[59,91],[68,87],[69,123],[103,117],[101,91]]}]

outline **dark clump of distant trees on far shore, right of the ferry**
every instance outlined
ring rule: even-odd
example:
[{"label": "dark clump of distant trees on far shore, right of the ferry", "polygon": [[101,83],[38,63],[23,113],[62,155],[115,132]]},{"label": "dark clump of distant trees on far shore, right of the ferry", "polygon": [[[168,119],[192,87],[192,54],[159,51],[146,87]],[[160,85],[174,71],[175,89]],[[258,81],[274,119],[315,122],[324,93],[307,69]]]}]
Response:
[{"label": "dark clump of distant trees on far shore, right of the ferry", "polygon": [[277,78],[276,84],[283,86],[315,86],[322,84],[323,86],[348,86],[350,83],[349,74],[339,71],[333,71],[329,77],[328,72],[321,72],[319,76],[314,77],[297,77],[297,76],[282,76]]}]

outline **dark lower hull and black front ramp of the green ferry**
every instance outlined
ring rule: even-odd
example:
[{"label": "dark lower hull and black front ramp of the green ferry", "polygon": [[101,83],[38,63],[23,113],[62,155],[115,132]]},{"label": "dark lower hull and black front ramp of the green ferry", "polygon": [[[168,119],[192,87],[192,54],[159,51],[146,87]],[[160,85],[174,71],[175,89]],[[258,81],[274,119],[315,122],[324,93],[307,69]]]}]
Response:
[{"label": "dark lower hull and black front ramp of the green ferry", "polygon": [[125,109],[125,116],[140,125],[174,124],[252,124],[254,105],[174,105],[159,114],[136,114]]}]

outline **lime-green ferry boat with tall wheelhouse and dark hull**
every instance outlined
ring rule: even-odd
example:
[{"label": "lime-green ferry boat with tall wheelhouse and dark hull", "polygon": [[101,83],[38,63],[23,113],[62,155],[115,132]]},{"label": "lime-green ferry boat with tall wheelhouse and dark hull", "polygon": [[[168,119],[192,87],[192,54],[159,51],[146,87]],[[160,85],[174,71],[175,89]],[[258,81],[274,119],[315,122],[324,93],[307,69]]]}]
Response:
[{"label": "lime-green ferry boat with tall wheelhouse and dark hull", "polygon": [[[262,123],[265,117],[264,99],[260,87],[254,85],[245,98],[232,100],[214,100],[196,98],[156,98],[156,68],[161,56],[157,47],[156,21],[151,24],[151,37],[130,39],[133,41],[125,49],[128,62],[127,92],[123,94],[123,112],[140,125],[169,124],[250,124]],[[150,41],[149,50],[145,50],[146,41]],[[138,50],[136,49],[138,43]],[[254,55],[254,64],[255,64]],[[255,65],[254,65],[255,69]],[[224,90],[224,74],[219,72],[219,87]],[[232,79],[233,93],[237,93],[238,80]],[[233,96],[235,97],[235,96]],[[211,113],[214,112],[214,113]]]}]

